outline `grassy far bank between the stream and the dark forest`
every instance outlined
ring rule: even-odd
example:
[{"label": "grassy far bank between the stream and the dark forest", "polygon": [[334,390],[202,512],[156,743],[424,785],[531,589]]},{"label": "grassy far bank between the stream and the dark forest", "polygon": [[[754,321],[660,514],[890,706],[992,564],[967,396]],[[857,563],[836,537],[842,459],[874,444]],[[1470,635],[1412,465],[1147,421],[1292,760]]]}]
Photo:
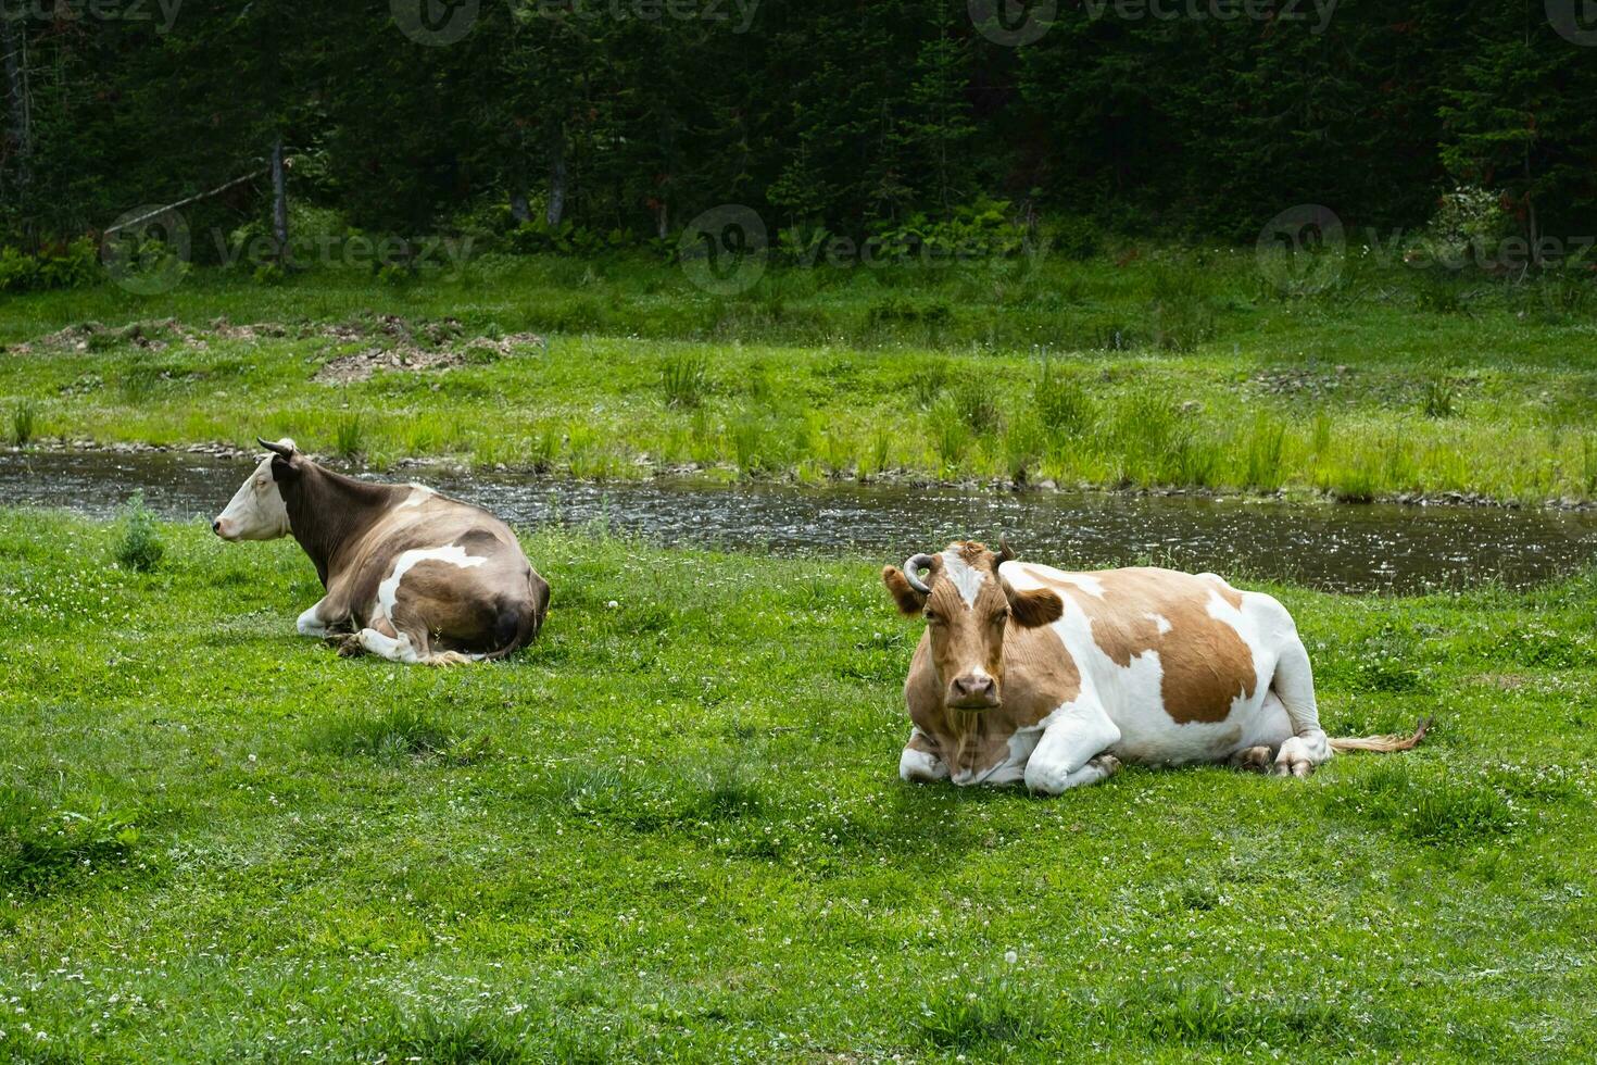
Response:
[{"label": "grassy far bank between the stream and the dark forest", "polygon": [[[1351,254],[1284,297],[1252,252],[773,268],[744,295],[636,260],[386,284],[196,271],[8,302],[0,437],[585,477],[882,476],[1597,498],[1597,299]],[[219,321],[225,319],[225,321]]]}]

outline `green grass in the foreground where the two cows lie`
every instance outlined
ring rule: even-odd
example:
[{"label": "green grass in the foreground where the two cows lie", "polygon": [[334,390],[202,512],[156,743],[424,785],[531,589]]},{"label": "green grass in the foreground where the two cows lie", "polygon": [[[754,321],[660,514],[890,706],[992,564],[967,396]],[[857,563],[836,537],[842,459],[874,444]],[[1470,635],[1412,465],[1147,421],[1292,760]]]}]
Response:
[{"label": "green grass in the foreground where the two cows lie", "polygon": [[292,635],[292,543],[0,511],[0,1057],[1591,1060],[1597,575],[1274,589],[1310,781],[907,787],[880,559],[537,533],[543,639]]}]

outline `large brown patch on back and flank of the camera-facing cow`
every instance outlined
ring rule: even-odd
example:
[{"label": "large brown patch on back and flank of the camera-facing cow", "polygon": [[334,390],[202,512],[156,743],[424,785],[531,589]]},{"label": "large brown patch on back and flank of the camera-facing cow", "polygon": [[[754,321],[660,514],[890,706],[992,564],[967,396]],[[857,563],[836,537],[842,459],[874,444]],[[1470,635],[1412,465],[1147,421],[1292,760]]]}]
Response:
[{"label": "large brown patch on back and flank of the camera-facing cow", "polygon": [[[1222,592],[1212,581],[1174,570],[1105,570],[1091,575],[1104,589],[1099,597],[1072,581],[1051,581],[1036,568],[1027,573],[1070,596],[1092,626],[1092,642],[1116,666],[1156,651],[1164,711],[1179,725],[1223,722],[1238,696],[1252,698],[1258,688],[1254,655],[1241,634],[1209,615],[1209,596]],[[1233,605],[1239,602],[1236,594]],[[1159,632],[1158,618],[1169,631]]]}]

